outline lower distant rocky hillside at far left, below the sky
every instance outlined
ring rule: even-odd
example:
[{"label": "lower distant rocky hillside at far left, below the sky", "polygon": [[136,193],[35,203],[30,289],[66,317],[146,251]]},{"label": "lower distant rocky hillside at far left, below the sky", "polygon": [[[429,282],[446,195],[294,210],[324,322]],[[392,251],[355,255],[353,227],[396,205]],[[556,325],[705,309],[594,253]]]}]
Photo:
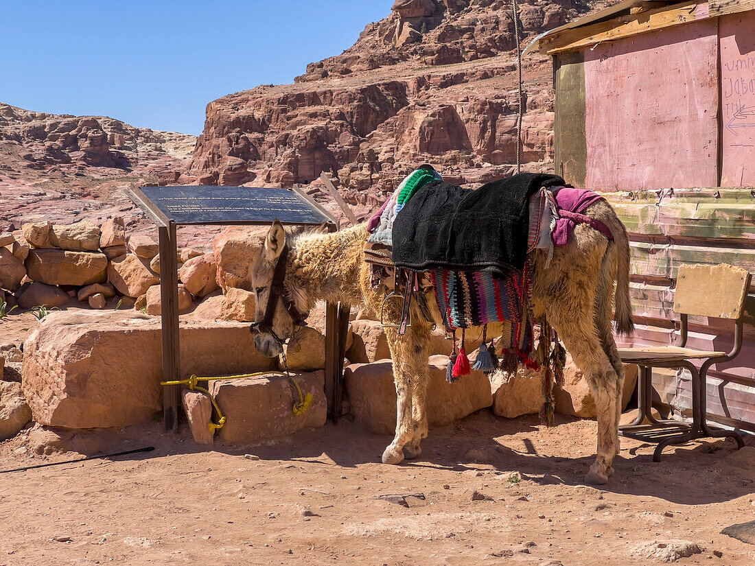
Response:
[{"label": "lower distant rocky hillside at far left, below the sky", "polygon": [[195,143],[194,136],[113,118],[0,103],[0,232],[27,221],[97,222],[128,211],[119,188],[174,181]]}]

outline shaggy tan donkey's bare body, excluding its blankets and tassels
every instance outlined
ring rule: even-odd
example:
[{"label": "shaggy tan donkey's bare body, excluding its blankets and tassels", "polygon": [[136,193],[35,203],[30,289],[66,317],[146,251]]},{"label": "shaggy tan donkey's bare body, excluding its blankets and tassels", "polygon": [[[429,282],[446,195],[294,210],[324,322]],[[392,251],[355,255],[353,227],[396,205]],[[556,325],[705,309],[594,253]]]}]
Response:
[{"label": "shaggy tan donkey's bare body, excluding its blankets and tassels", "polygon": [[[619,451],[618,420],[624,385],[624,366],[612,333],[612,303],[615,286],[618,332],[630,333],[630,252],[624,224],[605,200],[594,202],[585,214],[608,226],[613,241],[589,225],[579,224],[568,244],[555,248],[547,268],[545,252],[536,250],[532,308],[536,317],[547,317],[590,384],[596,402],[598,441],[596,460],[585,481],[605,484],[613,474],[612,461]],[[255,337],[255,346],[263,355],[272,357],[282,352],[282,343],[294,334],[297,321],[317,300],[340,301],[380,312],[385,291],[371,287],[370,269],[364,261],[367,237],[364,224],[331,234],[320,230],[287,234],[281,223],[273,223],[251,269],[255,323],[266,323],[257,328]],[[396,328],[386,328],[398,401],[396,435],[384,451],[384,463],[418,457],[420,442],[427,437],[428,343],[433,322],[427,321],[416,305],[413,301],[411,326],[403,336]],[[437,307],[433,314],[435,323],[442,324]],[[400,315],[400,305],[390,301],[384,317],[396,323]]]}]

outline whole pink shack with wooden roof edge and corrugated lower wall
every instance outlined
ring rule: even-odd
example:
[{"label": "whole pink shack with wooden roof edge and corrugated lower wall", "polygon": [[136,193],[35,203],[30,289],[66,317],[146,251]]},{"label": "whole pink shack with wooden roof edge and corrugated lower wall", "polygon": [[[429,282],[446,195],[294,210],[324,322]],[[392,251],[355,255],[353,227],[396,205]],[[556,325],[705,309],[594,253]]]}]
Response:
[{"label": "whole pink shack with wooden roof edge and corrugated lower wall", "polygon": [[[627,0],[535,38],[553,57],[556,173],[606,193],[630,230],[639,322],[624,346],[679,340],[681,263],[755,274],[755,0]],[[744,349],[713,366],[711,420],[755,430],[755,288]],[[691,320],[688,346],[727,350],[733,333]],[[689,413],[689,374],[655,369],[660,398]]]}]

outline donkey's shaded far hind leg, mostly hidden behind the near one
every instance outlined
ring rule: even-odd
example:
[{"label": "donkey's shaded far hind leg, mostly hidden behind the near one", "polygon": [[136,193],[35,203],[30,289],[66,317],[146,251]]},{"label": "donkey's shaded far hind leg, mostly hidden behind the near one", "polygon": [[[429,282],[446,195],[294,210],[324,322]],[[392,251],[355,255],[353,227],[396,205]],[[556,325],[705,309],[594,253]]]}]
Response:
[{"label": "donkey's shaded far hind leg, mostly hidden behind the near one", "polygon": [[[611,362],[618,380],[616,382],[616,454],[621,451],[618,437],[618,423],[621,419],[622,397],[624,395],[624,364],[618,353],[611,325],[611,305],[613,299],[614,273],[616,271],[615,246],[610,246],[603,256],[600,278],[595,292],[595,325],[603,352]],[[613,469],[609,469],[612,475]]]}]

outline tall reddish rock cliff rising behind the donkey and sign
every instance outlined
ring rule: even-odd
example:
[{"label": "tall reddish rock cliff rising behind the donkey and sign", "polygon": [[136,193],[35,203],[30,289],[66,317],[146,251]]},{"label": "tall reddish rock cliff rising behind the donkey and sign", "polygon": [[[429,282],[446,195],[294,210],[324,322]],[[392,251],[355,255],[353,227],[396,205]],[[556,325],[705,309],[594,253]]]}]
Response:
[{"label": "tall reddish rock cliff rising behind the donkey and sign", "polygon": [[[520,5],[522,46],[590,9],[578,0]],[[396,0],[353,47],[310,63],[294,85],[214,100],[181,183],[310,183],[337,177],[353,205],[384,200],[428,161],[458,183],[516,162],[516,42],[507,0]],[[525,60],[523,161],[552,167],[550,60]]]}]

